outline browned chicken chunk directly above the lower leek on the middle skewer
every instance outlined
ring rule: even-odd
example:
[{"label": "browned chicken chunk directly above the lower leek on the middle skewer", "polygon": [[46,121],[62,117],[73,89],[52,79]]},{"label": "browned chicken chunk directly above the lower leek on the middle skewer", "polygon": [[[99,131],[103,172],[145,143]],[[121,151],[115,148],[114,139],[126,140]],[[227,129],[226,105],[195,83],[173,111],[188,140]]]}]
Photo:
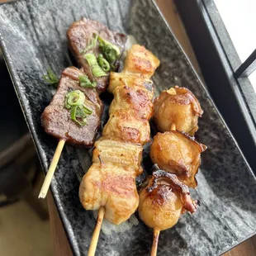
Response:
[{"label": "browned chicken chunk directly above the lower leek on the middle skewer", "polygon": [[102,136],[107,139],[115,138],[123,142],[145,145],[150,141],[149,121],[131,116],[130,112],[116,111],[111,113]]}]

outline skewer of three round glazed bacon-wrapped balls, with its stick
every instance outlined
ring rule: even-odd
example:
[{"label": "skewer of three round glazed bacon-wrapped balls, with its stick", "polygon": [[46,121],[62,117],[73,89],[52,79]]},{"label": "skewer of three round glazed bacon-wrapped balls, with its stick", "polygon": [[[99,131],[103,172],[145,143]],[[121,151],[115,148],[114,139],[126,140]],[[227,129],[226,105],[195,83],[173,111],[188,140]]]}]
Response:
[{"label": "skewer of three round glazed bacon-wrapped balls, with its stick", "polygon": [[197,201],[189,197],[187,186],[197,186],[195,175],[206,146],[177,129],[193,135],[201,114],[197,98],[186,88],[171,88],[154,101],[154,121],[164,133],[154,136],[150,157],[164,171],[153,173],[140,192],[139,206],[140,218],[154,229],[151,256],[157,253],[160,230],[175,225],[184,211],[197,210]]}]

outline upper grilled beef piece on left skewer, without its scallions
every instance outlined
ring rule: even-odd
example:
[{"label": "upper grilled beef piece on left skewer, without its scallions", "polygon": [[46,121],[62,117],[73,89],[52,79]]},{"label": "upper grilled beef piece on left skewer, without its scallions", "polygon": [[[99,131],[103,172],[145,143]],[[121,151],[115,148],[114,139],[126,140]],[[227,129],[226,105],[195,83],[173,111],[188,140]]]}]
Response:
[{"label": "upper grilled beef piece on left skewer, without its scallions", "polygon": [[[125,50],[127,40],[126,35],[110,31],[107,29],[107,26],[104,26],[97,21],[83,18],[80,21],[73,22],[72,26],[69,27],[67,36],[69,40],[69,49],[72,51],[75,59],[77,59],[78,64],[83,67],[84,72],[88,75],[91,81],[97,82],[97,90],[99,92],[104,92],[109,82],[111,69],[104,71],[105,75],[97,75],[97,73],[93,73],[93,69],[89,64],[86,55],[93,54],[98,57],[98,55],[104,55],[106,53],[107,55],[110,55],[110,59],[107,59],[107,61],[111,62],[111,57],[115,57],[113,55],[116,54],[109,48],[106,49],[106,45],[114,45],[117,52],[116,58],[119,58]],[[101,43],[103,44],[102,47],[100,47]],[[106,55],[103,57],[107,58]],[[118,65],[116,59],[114,59],[111,64],[113,65],[112,69],[116,69]]]}]

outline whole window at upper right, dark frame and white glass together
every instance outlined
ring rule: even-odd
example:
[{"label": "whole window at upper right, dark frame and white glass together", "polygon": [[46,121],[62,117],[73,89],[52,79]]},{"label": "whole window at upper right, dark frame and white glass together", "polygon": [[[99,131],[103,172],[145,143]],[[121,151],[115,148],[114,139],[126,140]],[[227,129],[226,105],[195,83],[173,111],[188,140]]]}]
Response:
[{"label": "whole window at upper right, dark frame and white glass together", "polygon": [[256,0],[174,0],[216,106],[256,173]]}]

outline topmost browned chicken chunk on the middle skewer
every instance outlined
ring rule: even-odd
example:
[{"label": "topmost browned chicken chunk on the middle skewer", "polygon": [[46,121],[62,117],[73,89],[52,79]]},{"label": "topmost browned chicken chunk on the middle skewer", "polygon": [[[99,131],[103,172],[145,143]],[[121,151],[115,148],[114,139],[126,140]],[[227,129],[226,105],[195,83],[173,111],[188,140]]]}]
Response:
[{"label": "topmost browned chicken chunk on the middle skewer", "polygon": [[143,78],[151,78],[160,61],[142,45],[132,45],[126,55],[123,73],[136,73]]}]

